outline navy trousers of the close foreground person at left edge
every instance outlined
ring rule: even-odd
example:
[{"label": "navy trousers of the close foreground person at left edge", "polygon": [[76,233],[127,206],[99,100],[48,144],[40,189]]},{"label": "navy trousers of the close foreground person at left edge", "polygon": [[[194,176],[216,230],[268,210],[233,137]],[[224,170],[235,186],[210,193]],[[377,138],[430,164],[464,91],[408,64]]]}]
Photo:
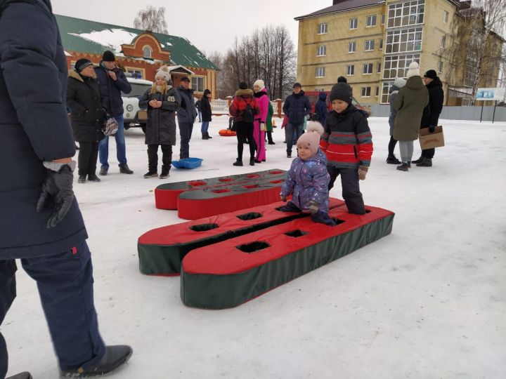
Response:
[{"label": "navy trousers of the close foreground person at left edge", "polygon": [[[49,333],[60,368],[96,366],[105,354],[98,333],[93,303],[93,266],[86,244],[55,255],[22,259],[25,272],[37,281]],[[0,322],[15,298],[15,260],[0,260]],[[0,334],[0,378],[7,372],[8,357]]]}]

